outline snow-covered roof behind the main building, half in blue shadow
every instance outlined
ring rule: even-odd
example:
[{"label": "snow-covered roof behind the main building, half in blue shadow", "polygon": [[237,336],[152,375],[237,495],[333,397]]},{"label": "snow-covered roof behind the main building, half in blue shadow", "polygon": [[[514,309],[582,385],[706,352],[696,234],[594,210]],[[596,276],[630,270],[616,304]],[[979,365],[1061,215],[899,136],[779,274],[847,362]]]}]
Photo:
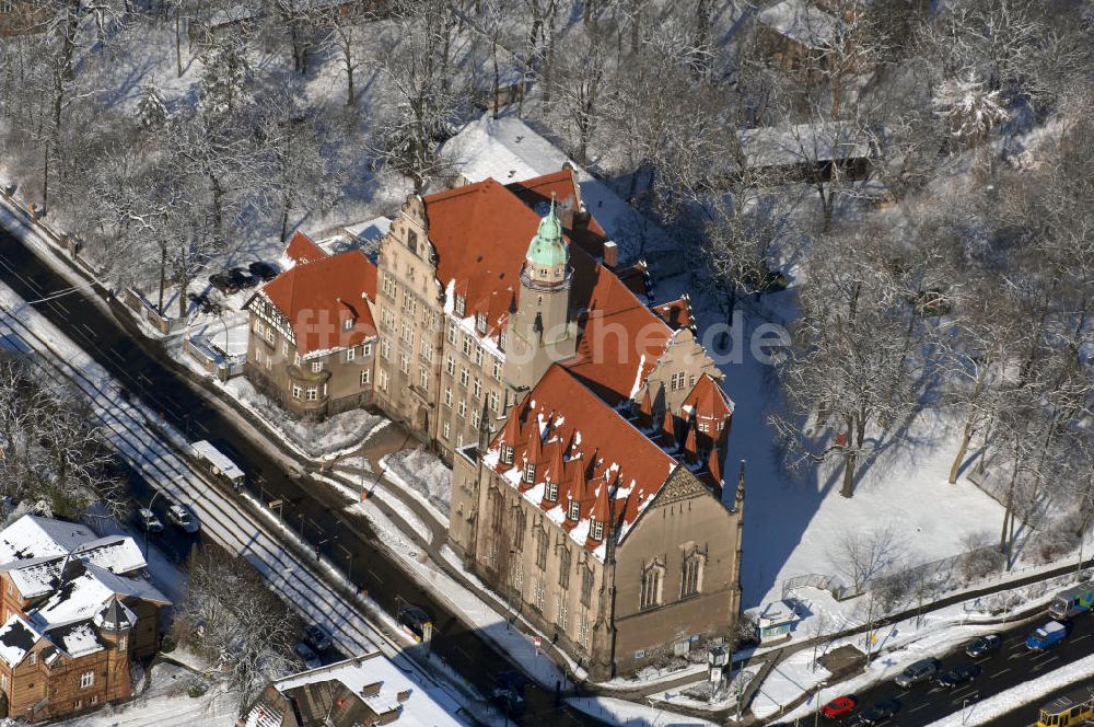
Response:
[{"label": "snow-covered roof behind the main building, half in blue shadow", "polygon": [[[468,182],[494,178],[502,184],[550,174],[569,163],[578,175],[581,199],[610,240],[620,247],[620,263],[639,250],[655,254],[676,247],[663,229],[639,215],[607,184],[569,159],[561,149],[512,115],[484,114],[444,142],[441,154]],[[644,247],[641,242],[645,240]]]}]

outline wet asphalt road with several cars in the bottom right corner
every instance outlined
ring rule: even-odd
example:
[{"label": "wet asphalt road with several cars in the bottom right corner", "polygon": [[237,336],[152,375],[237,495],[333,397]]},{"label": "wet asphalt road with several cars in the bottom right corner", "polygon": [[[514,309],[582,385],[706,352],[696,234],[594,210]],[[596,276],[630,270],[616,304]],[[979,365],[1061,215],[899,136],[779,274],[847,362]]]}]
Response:
[{"label": "wet asphalt road with several cars in the bottom right corner", "polygon": [[[1034,628],[1049,620],[1047,613],[1033,621],[1023,622],[998,633],[1003,635],[1003,645],[993,654],[979,659],[970,659],[965,655],[965,646],[947,655],[935,656],[942,661],[942,669],[951,669],[961,663],[976,662],[980,676],[971,682],[952,689],[939,686],[935,681],[924,682],[910,689],[900,689],[892,680],[878,684],[868,691],[857,694],[859,708],[862,712],[871,705],[887,699],[900,701],[900,711],[888,722],[886,727],[917,727],[927,725],[947,715],[966,711],[967,716],[976,711],[976,703],[999,692],[1015,688],[1029,679],[1040,677],[1054,669],[1090,656],[1094,651],[1094,615],[1084,614],[1072,620],[1071,634],[1057,646],[1045,651],[1032,651],[1026,648],[1025,639]],[[969,642],[973,639],[970,638]],[[884,657],[883,657],[884,658]],[[1063,690],[1068,692],[1070,690]],[[842,694],[837,688],[826,689],[825,701]],[[992,720],[992,725],[1013,725],[1028,727],[1037,722],[1037,709],[1050,697],[1035,700],[1033,704],[1017,709],[1005,717]],[[843,719],[842,722],[849,722]]]}]

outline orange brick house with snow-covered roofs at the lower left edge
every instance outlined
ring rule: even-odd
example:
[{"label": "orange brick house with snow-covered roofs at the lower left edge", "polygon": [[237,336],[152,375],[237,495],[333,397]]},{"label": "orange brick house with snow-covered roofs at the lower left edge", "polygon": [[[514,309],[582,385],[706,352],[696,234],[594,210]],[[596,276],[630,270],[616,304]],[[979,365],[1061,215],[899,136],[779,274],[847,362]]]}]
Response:
[{"label": "orange brick house with snow-covered roofs at the lower left edge", "polygon": [[171,603],[129,538],[24,516],[0,532],[0,712],[40,722],[132,696]]}]

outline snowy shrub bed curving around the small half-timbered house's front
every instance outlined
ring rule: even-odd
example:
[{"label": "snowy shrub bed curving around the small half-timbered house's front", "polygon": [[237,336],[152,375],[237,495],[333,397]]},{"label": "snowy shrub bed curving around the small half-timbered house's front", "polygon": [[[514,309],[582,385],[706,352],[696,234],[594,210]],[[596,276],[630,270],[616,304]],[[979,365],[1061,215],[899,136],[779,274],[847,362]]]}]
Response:
[{"label": "snowy shrub bed curving around the small half-timbered house's front", "polygon": [[243,377],[231,379],[222,384],[222,389],[310,459],[333,459],[352,451],[377,427],[389,424],[384,417],[360,408],[335,414],[322,422],[294,419]]}]

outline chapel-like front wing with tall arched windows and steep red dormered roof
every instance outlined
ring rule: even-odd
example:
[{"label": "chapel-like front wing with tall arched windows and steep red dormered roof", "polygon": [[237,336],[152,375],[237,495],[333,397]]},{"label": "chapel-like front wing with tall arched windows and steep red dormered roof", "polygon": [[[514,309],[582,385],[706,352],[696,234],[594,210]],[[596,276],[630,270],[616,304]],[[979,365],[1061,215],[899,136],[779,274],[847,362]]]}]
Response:
[{"label": "chapel-like front wing with tall arched windows and steep red dormered roof", "polygon": [[729,431],[732,409],[714,420],[706,385],[661,428],[554,366],[456,458],[450,543],[594,679],[736,621],[744,493],[722,503],[721,459],[688,434],[698,420],[712,442]]}]

